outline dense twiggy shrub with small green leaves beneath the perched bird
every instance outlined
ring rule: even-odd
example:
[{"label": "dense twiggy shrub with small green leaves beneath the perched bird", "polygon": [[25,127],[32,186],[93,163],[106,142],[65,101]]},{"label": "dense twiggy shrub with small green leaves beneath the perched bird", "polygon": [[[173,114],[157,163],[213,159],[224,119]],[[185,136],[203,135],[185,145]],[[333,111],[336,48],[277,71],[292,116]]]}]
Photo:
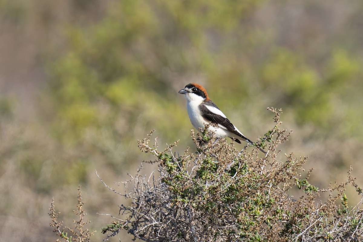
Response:
[{"label": "dense twiggy shrub with small green leaves beneath the perched bird", "polygon": [[[178,142],[158,151],[156,138],[150,144],[153,131],[140,140],[140,150],[156,157],[147,162],[158,163],[159,175],[142,176],[141,166],[122,182],[128,192],[116,194],[130,199],[131,206],[120,206],[127,218],[114,217],[102,229],[106,239],[125,229],[143,241],[361,241],[361,202],[349,207],[344,190],[348,183],[359,194],[362,188],[348,172],[346,182],[319,189],[309,183],[312,170],[301,175],[307,157],[289,153],[278,159],[278,146],[290,132],[280,128],[281,110],[269,110],[275,125],[251,151],[239,152],[206,129],[200,136],[192,131],[195,153],[188,148],[176,155],[172,149]],[[268,147],[268,154],[258,147]],[[303,196],[294,199],[294,188]],[[322,193],[330,193],[325,202],[317,200]]]}]

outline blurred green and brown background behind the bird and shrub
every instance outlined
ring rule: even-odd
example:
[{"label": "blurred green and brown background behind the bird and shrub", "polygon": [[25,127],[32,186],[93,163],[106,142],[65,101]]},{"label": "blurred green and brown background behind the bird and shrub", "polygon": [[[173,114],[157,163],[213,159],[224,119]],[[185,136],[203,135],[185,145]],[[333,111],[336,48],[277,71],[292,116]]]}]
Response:
[{"label": "blurred green and brown background behind the bird and shrub", "polygon": [[189,82],[252,140],[274,126],[266,107],[282,108],[282,154],[308,155],[311,183],[343,182],[352,165],[362,186],[362,12],[359,0],[0,0],[0,241],[55,241],[52,197],[71,226],[78,184],[101,241],[112,218],[96,213],[125,201],[95,170],[110,186],[135,174],[152,129],[160,149],[193,150]]}]

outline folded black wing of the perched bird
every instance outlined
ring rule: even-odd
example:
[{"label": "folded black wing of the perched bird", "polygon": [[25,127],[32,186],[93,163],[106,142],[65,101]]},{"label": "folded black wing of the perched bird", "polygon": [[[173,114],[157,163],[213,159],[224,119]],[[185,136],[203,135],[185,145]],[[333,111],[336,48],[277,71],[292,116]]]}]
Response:
[{"label": "folded black wing of the perched bird", "polygon": [[[218,110],[220,110],[217,105],[215,103],[213,103],[212,101],[206,101],[202,104],[199,105],[199,109],[201,111],[201,114],[203,116],[203,118],[205,118],[207,121],[215,123],[215,124],[221,124],[221,126],[223,126],[226,130],[228,130],[229,132],[240,136],[242,139],[246,140],[249,143],[253,143],[251,140],[247,139],[246,136],[242,135],[240,132],[238,132],[236,130],[236,128],[234,127],[234,125],[231,123],[231,121],[228,120],[228,118],[225,118],[221,115],[215,114],[214,112],[211,112],[206,105],[212,106],[217,108]],[[237,141],[237,140],[236,140]],[[238,140],[239,141],[239,140]],[[237,142],[238,142],[237,141]],[[240,142],[238,142],[240,143]]]}]

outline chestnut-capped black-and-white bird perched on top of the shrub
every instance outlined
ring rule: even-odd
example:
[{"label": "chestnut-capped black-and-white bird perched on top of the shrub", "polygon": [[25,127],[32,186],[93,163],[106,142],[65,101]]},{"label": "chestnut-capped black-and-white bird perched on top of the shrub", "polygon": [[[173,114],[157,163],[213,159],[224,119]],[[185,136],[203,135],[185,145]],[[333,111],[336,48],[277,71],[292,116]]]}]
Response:
[{"label": "chestnut-capped black-and-white bird perched on top of the shrub", "polygon": [[[209,99],[204,87],[197,83],[189,83],[179,91],[187,99],[187,111],[190,122],[198,130],[204,129],[205,124],[213,123],[216,127],[209,126],[208,130],[215,132],[216,138],[229,137],[241,144],[241,140],[248,144],[253,142],[244,136],[236,126],[224,115],[217,105]],[[267,154],[261,147],[262,152]]]}]

